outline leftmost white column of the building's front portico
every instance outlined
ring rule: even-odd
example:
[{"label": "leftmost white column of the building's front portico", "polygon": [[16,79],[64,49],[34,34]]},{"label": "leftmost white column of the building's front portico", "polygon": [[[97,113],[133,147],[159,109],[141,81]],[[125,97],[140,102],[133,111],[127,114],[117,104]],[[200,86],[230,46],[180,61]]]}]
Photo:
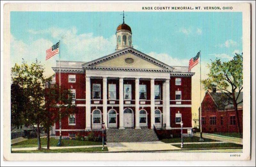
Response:
[{"label": "leftmost white column of the building's front portico", "polygon": [[86,120],[85,130],[92,130],[91,128],[91,81],[90,77],[85,77],[85,93],[86,93]]}]

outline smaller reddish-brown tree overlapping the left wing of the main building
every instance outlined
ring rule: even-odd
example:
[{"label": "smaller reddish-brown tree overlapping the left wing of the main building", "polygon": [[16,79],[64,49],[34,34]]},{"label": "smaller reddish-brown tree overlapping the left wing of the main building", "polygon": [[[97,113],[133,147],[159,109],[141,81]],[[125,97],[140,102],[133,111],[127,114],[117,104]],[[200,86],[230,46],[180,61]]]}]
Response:
[{"label": "smaller reddish-brown tree overlapping the left wing of the main building", "polygon": [[70,90],[60,89],[59,85],[48,83],[48,88],[45,90],[45,110],[47,114],[43,122],[47,132],[47,149],[50,149],[50,127],[52,124],[61,120],[61,117],[74,113],[75,105],[72,104],[72,100]]}]

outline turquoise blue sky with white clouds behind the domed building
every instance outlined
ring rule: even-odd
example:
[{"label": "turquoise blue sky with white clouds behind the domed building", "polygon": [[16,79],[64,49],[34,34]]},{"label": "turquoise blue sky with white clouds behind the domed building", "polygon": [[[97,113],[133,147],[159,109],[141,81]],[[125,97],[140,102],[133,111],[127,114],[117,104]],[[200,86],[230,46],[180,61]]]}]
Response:
[{"label": "turquoise blue sky with white clouds behind the domed building", "polygon": [[[45,50],[61,40],[61,60],[92,61],[116,47],[122,12],[11,12],[11,66],[37,58],[45,75],[58,56],[45,61]],[[202,79],[210,59],[232,59],[242,52],[242,12],[125,12],[135,49],[170,66],[188,66],[201,50]],[[192,113],[198,115],[199,65],[192,69]],[[201,91],[204,97],[204,90]],[[198,118],[198,117],[197,117]]]}]

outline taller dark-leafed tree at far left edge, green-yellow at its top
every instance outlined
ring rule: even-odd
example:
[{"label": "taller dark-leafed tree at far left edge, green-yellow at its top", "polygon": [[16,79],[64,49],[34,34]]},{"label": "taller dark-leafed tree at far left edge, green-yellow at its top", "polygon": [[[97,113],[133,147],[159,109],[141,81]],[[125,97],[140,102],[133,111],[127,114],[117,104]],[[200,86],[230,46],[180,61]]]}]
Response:
[{"label": "taller dark-leafed tree at far left edge, green-yellow at its top", "polygon": [[22,96],[26,99],[24,102],[20,101],[23,103],[21,113],[18,113],[20,110],[15,110],[13,105],[12,116],[21,114],[21,122],[37,126],[38,149],[41,149],[40,125],[44,122],[46,115],[44,86],[46,82],[52,80],[52,76],[45,77],[43,73],[44,67],[37,60],[31,65],[23,61],[21,65],[15,64],[11,69],[12,84],[22,90]]}]

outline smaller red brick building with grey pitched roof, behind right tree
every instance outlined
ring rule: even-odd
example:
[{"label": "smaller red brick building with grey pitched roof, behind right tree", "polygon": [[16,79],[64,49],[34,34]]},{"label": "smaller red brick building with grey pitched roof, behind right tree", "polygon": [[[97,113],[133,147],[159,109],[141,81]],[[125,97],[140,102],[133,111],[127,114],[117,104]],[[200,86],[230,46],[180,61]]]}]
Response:
[{"label": "smaller red brick building with grey pitched roof, behind right tree", "polygon": [[[235,94],[236,97],[238,93]],[[229,103],[225,93],[207,91],[202,101],[202,132],[238,132],[234,105]],[[237,103],[243,100],[243,92],[239,94]],[[238,121],[243,132],[243,102],[238,104]],[[200,108],[199,108],[200,115]],[[200,119],[200,118],[199,118]],[[200,121],[199,121],[200,123]]]}]

